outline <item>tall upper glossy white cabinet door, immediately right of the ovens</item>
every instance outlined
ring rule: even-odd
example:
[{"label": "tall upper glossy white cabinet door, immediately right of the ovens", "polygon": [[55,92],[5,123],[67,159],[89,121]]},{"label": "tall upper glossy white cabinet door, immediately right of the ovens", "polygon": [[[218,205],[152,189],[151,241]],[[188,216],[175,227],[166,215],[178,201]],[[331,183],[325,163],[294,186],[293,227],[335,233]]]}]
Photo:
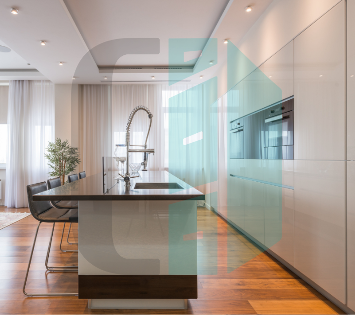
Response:
[{"label": "tall upper glossy white cabinet door, immediately right of the ovens", "polygon": [[342,1],[294,39],[294,159],[345,159],[344,10]]}]

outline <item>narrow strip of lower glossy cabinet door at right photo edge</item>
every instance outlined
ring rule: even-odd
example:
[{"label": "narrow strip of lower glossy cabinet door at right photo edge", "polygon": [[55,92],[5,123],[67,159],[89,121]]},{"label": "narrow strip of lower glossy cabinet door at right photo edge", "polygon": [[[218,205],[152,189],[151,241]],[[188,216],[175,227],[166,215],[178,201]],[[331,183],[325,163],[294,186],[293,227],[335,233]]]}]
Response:
[{"label": "narrow strip of lower glossy cabinet door at right photo edge", "polygon": [[347,162],[348,306],[355,310],[355,162]]}]

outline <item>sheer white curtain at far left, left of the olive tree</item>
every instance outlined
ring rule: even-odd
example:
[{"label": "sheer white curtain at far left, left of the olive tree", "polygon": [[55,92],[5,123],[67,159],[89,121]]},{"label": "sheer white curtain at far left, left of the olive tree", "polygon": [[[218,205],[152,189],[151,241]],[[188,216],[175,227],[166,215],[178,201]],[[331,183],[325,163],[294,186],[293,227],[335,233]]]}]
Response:
[{"label": "sheer white curtain at far left, left of the olive tree", "polygon": [[54,84],[10,81],[7,124],[5,205],[27,207],[26,186],[48,178],[44,153],[54,141]]}]

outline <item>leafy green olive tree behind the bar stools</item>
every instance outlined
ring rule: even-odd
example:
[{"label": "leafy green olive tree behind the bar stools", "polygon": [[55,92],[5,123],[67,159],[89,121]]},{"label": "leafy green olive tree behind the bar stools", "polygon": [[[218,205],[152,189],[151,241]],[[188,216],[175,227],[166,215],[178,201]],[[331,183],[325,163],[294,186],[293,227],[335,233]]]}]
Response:
[{"label": "leafy green olive tree behind the bar stools", "polygon": [[78,148],[71,147],[68,140],[57,138],[54,142],[49,141],[46,150],[44,157],[52,170],[48,173],[49,177],[60,177],[61,184],[64,185],[66,175],[72,173],[80,163]]}]

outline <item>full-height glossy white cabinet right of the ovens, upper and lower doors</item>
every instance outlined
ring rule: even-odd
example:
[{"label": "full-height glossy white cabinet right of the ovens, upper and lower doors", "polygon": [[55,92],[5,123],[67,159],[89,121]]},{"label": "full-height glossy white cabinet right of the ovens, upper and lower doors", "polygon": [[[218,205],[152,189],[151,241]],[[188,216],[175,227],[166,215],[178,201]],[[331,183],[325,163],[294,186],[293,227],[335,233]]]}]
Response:
[{"label": "full-height glossy white cabinet right of the ovens, upper and lower doors", "polygon": [[294,39],[294,267],[345,297],[345,1]]}]

